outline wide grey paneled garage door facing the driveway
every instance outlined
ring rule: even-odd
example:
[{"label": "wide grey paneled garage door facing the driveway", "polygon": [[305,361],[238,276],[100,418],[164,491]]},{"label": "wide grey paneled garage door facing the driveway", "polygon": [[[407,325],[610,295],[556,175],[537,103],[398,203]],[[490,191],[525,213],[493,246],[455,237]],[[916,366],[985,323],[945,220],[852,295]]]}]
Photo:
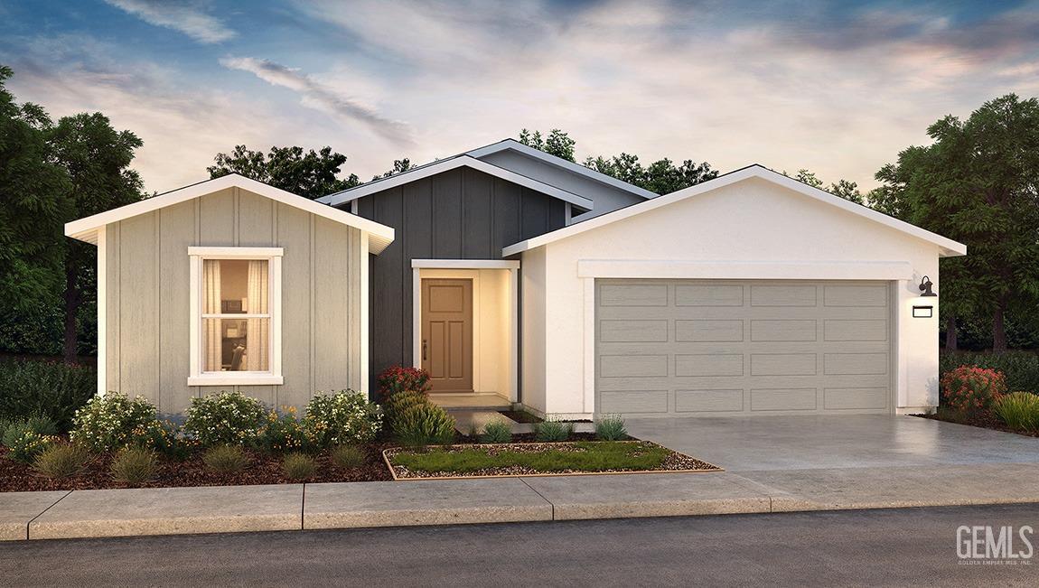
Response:
[{"label": "wide grey paneled garage door facing the driveway", "polygon": [[883,282],[597,279],[598,412],[889,412]]}]

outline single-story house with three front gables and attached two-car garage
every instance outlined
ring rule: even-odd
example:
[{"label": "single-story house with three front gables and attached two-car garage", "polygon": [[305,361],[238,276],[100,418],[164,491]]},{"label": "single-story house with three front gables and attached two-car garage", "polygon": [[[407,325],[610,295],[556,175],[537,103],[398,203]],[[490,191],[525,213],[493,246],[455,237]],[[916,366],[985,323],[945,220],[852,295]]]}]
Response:
[{"label": "single-story house with three front gables and attached two-car garage", "polygon": [[397,364],[448,406],[927,410],[927,294],[966,252],[758,165],[658,196],[511,140],[318,202],[229,176],[65,232],[99,246],[99,391],[172,412]]}]

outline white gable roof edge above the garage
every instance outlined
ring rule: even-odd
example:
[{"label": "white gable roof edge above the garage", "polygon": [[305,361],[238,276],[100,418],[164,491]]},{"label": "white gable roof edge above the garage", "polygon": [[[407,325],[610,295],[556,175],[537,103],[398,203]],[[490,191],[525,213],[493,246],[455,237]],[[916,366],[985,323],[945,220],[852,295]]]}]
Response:
[{"label": "white gable roof edge above the garage", "polygon": [[670,194],[665,194],[663,196],[656,197],[651,201],[646,201],[644,203],[639,203],[627,208],[618,209],[613,212],[606,213],[602,216],[596,216],[589,220],[578,222],[576,224],[570,224],[569,226],[564,226],[563,229],[559,229],[551,233],[545,233],[543,235],[527,239],[526,241],[521,241],[520,243],[515,243],[513,245],[509,245],[508,247],[502,249],[502,257],[514,256],[516,253],[521,253],[523,251],[533,249],[535,247],[540,247],[542,245],[559,241],[560,239],[572,237],[574,235],[580,235],[581,233],[592,231],[598,229],[600,226],[611,224],[618,220],[631,218],[635,215],[642,214],[650,210],[656,210],[658,208],[665,207],[669,204],[694,197],[699,194],[703,194],[705,192],[715,190],[717,188],[721,188],[723,186],[728,186],[737,182],[748,180],[750,178],[760,178],[772,184],[778,184],[779,186],[789,188],[791,190],[794,190],[795,192],[799,192],[808,197],[815,198],[821,203],[840,208],[842,210],[845,210],[853,214],[857,214],[861,217],[868,218],[875,222],[879,222],[897,231],[901,231],[902,233],[905,233],[907,235],[911,235],[912,237],[915,237],[917,239],[922,239],[929,243],[933,243],[938,247],[940,247],[941,257],[965,256],[967,252],[966,245],[962,243],[958,243],[956,241],[953,241],[952,239],[942,237],[941,235],[931,233],[930,231],[926,231],[924,229],[921,229],[920,226],[916,226],[915,224],[910,224],[904,220],[899,220],[894,216],[887,216],[886,214],[877,212],[870,207],[855,204],[851,201],[847,201],[845,198],[842,198],[841,196],[831,194],[825,190],[814,188],[807,184],[798,182],[797,180],[788,178],[782,173],[773,171],[767,167],[764,167],[755,163],[753,165],[737,169],[736,171],[724,173],[713,180],[708,180],[707,182],[696,184],[695,186],[690,186],[689,188],[685,188],[676,192],[671,192]]}]

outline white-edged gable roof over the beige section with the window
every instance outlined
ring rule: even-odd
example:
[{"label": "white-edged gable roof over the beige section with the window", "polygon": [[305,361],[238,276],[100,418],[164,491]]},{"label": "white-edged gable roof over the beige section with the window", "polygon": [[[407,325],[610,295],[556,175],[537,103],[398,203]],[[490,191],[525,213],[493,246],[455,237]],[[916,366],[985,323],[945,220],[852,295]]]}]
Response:
[{"label": "white-edged gable roof over the beige section with the window", "polygon": [[393,228],[335,209],[330,206],[316,203],[281,188],[268,186],[267,184],[250,180],[238,173],[231,173],[230,176],[223,176],[215,180],[206,180],[205,182],[198,182],[197,184],[164,192],[107,212],[74,220],[65,223],[65,236],[97,245],[98,231],[106,224],[205,196],[227,188],[242,188],[243,190],[248,190],[272,201],[327,218],[328,220],[359,229],[368,234],[368,250],[373,253],[382,252],[382,249],[385,249],[394,240]]}]

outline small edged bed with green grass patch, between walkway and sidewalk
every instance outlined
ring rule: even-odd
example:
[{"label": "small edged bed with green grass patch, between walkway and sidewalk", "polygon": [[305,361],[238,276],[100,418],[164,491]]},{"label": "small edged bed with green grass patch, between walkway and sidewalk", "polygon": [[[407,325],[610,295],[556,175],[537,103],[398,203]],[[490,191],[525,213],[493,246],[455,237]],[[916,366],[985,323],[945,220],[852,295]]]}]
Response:
[{"label": "small edged bed with green grass patch, between walkway and sidewalk", "polygon": [[384,452],[398,480],[620,472],[718,472],[650,442],[563,442],[450,446]]}]

